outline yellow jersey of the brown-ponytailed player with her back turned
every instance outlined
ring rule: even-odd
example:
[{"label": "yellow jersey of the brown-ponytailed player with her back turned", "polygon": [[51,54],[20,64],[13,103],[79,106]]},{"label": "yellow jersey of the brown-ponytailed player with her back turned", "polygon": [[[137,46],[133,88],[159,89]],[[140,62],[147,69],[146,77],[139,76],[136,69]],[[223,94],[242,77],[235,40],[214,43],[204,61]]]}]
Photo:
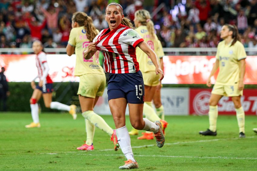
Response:
[{"label": "yellow jersey of the brown-ponytailed player with her back turned", "polygon": [[75,47],[75,76],[91,73],[104,74],[103,68],[99,64],[99,51],[97,51],[92,58],[88,60],[83,58],[83,51],[87,49],[89,43],[90,41],[87,38],[86,31],[83,26],[72,28],[68,44]]}]

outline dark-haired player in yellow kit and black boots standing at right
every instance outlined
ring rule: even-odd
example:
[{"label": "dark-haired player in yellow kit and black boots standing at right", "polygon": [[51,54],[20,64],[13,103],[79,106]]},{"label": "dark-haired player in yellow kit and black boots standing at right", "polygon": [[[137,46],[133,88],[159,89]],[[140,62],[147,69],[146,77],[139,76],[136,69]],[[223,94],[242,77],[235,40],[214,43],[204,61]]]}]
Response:
[{"label": "dark-haired player in yellow kit and black boots standing at right", "polygon": [[222,96],[228,96],[232,97],[235,105],[239,137],[244,138],[245,112],[241,105],[240,97],[243,95],[244,89],[246,53],[235,25],[225,24],[222,26],[220,38],[223,41],[218,44],[216,62],[207,81],[207,86],[211,87],[211,77],[219,68],[219,74],[209,99],[210,127],[206,131],[200,131],[199,133],[202,135],[217,135],[218,102]]}]

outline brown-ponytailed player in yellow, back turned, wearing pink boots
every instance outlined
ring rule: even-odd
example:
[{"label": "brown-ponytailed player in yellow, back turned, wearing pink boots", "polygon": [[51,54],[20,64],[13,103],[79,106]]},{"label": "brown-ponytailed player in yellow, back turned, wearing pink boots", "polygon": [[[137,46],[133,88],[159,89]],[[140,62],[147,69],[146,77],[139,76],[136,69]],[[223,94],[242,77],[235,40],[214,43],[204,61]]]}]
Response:
[{"label": "brown-ponytailed player in yellow, back turned, wearing pink boots", "polygon": [[96,114],[93,109],[105,89],[106,77],[103,68],[99,64],[99,53],[95,53],[92,58],[85,60],[83,51],[99,31],[93,25],[92,18],[84,12],[75,12],[72,16],[72,30],[70,32],[67,54],[76,54],[75,76],[79,76],[78,98],[85,118],[87,140],[85,144],[78,147],[78,150],[94,150],[93,138],[95,127],[105,131],[111,136],[115,151],[118,150],[118,140],[116,131]]}]

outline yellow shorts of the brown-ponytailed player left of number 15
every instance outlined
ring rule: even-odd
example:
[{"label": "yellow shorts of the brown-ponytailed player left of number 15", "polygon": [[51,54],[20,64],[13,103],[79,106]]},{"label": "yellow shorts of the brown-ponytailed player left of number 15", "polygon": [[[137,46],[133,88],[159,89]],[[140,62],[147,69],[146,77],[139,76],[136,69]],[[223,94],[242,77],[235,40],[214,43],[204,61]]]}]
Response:
[{"label": "yellow shorts of the brown-ponytailed player left of number 15", "polygon": [[106,83],[104,74],[84,74],[79,79],[78,95],[91,98],[102,96]]}]

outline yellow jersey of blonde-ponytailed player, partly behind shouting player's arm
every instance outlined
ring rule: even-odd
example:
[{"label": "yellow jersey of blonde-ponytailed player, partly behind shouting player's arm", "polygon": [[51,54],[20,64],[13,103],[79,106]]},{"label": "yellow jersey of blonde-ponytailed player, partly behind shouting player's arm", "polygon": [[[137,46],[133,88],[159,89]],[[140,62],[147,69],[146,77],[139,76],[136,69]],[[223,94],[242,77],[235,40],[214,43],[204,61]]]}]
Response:
[{"label": "yellow jersey of blonde-ponytailed player, partly behind shouting player's arm", "polygon": [[[146,26],[140,26],[135,29],[139,35],[144,39],[144,41],[155,51],[158,56],[158,38],[155,35],[155,40],[150,38],[149,32]],[[136,48],[136,58],[139,63],[139,69],[142,72],[155,71],[155,66],[152,63],[151,59],[143,52],[139,47]]]}]

